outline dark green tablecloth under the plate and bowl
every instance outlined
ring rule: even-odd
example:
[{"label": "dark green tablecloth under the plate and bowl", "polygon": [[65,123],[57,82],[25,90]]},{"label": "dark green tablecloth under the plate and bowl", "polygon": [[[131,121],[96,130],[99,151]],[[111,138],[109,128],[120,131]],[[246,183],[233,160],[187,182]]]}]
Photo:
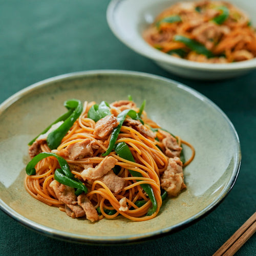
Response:
[{"label": "dark green tablecloth under the plate and bowl", "polygon": [[[182,79],[124,46],[105,18],[109,1],[1,0],[0,102],[45,78],[82,70],[121,69],[180,81],[214,101],[236,127],[242,165],[216,210],[182,231],[133,246],[72,244],[43,236],[0,211],[1,255],[211,255],[256,209],[256,72],[218,82]],[[237,255],[256,254],[255,235]]]}]

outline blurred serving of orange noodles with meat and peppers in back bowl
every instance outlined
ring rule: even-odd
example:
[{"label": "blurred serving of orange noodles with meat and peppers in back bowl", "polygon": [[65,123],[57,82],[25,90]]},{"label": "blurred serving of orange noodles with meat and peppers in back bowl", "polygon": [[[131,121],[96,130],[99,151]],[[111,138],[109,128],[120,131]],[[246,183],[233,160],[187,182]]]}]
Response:
[{"label": "blurred serving of orange noodles with meat and peppers in back bowl", "polygon": [[154,48],[174,57],[229,63],[256,57],[256,32],[248,16],[224,1],[179,2],[143,33]]}]

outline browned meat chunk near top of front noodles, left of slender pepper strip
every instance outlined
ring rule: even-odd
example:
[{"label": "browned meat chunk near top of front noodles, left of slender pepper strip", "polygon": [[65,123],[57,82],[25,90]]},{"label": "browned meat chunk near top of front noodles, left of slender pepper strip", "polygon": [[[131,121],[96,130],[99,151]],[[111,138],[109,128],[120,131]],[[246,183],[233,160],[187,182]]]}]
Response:
[{"label": "browned meat chunk near top of front noodles, left of slender pepper strip", "polygon": [[112,133],[114,128],[119,124],[114,115],[105,116],[95,124],[94,135],[98,138],[104,138]]}]

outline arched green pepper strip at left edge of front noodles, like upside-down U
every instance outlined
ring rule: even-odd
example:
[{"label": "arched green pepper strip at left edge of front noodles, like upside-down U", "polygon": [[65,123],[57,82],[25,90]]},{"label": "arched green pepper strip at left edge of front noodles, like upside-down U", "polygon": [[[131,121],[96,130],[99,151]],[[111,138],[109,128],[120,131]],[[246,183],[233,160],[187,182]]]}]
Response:
[{"label": "arched green pepper strip at left edge of front noodles, like upside-down U", "polygon": [[71,173],[71,170],[69,168],[67,161],[64,158],[50,152],[42,152],[36,155],[26,166],[27,175],[35,175],[35,165],[46,157],[56,157],[59,162],[60,168],[63,170],[63,173],[65,173],[65,175],[70,179],[74,177],[73,174]]}]

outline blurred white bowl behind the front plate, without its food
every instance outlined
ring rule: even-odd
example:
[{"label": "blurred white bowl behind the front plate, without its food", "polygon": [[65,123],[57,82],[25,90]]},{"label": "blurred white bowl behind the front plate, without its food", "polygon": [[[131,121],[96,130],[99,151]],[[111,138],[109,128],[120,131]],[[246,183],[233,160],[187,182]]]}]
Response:
[{"label": "blurred white bowl behind the front plate, without its food", "polygon": [[[191,0],[183,0],[191,1]],[[178,0],[112,0],[106,17],[108,24],[119,40],[135,52],[154,60],[163,69],[176,75],[193,79],[222,79],[240,76],[256,69],[256,58],[227,64],[212,64],[189,61],[163,53],[142,38],[142,32],[153,23],[155,17]],[[230,0],[244,10],[256,25],[255,0]]]}]

